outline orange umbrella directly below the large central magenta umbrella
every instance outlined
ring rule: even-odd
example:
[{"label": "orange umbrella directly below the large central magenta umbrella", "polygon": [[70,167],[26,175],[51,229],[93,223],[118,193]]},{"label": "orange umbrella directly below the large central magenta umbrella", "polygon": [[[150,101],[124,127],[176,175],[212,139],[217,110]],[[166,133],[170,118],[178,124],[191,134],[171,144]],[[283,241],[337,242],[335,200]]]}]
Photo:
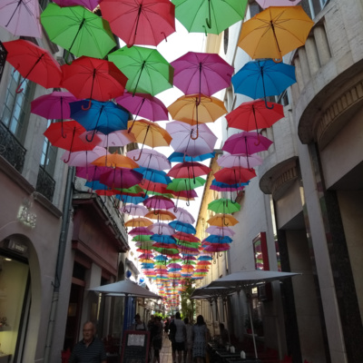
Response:
[{"label": "orange umbrella directly below the large central magenta umbrella", "polygon": [[[178,98],[168,107],[169,113],[174,120],[198,125],[198,123],[214,123],[223,114],[227,113],[224,103],[215,97],[204,94],[189,94]],[[191,139],[198,139],[197,137]]]}]

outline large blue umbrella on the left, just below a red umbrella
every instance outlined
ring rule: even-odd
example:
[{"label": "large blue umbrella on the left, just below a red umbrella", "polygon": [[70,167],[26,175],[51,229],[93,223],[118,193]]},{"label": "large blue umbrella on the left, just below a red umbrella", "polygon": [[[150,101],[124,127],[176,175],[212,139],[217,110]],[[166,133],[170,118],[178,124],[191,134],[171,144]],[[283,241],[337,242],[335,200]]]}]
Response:
[{"label": "large blue umbrella on the left, just below a red umbrella", "polygon": [[[99,102],[92,101],[91,107],[88,107],[89,101],[76,101],[70,103],[71,117],[81,123],[87,131],[93,130],[91,139],[86,136],[87,142],[92,142],[96,131],[103,132],[105,135],[110,132],[127,129],[127,121],[129,120],[129,112],[125,111],[120,105],[111,101]],[[83,108],[82,108],[83,107]]]}]

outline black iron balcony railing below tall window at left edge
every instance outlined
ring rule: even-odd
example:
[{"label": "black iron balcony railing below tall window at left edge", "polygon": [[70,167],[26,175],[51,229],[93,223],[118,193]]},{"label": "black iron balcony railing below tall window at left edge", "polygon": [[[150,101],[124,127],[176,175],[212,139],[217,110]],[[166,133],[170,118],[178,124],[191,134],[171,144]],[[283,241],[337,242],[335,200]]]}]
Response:
[{"label": "black iron balcony railing below tall window at left edge", "polygon": [[12,132],[0,121],[0,155],[15,167],[18,172],[23,172],[25,162],[25,148],[18,142]]}]

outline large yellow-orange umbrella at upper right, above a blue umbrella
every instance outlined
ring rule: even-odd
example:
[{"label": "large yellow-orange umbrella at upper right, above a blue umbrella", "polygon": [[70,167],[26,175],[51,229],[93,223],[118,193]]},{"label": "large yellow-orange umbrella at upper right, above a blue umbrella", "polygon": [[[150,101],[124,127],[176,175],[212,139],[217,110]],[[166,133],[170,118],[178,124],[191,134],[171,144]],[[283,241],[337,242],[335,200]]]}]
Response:
[{"label": "large yellow-orange umbrella at upper right, above a blue umbrella", "polygon": [[253,59],[282,60],[304,45],[314,22],[301,6],[270,6],[243,23],[239,46]]}]

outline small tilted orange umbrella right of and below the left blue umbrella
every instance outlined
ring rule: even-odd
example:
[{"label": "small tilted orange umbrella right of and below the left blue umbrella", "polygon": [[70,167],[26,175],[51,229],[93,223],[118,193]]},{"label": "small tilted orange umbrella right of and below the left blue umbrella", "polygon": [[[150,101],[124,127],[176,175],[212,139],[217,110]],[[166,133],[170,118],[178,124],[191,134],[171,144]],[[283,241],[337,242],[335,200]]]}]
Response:
[{"label": "small tilted orange umbrella right of and below the left blue umbrella", "polygon": [[[133,123],[133,125],[132,125]],[[152,148],[157,146],[169,146],[172,142],[172,136],[164,130],[157,123],[152,123],[147,120],[137,120],[133,122],[132,120],[127,124],[128,128],[132,127],[132,133],[135,136],[137,142],[143,145],[151,146]],[[138,158],[133,157],[136,162],[140,159],[142,155],[142,149]]]}]

